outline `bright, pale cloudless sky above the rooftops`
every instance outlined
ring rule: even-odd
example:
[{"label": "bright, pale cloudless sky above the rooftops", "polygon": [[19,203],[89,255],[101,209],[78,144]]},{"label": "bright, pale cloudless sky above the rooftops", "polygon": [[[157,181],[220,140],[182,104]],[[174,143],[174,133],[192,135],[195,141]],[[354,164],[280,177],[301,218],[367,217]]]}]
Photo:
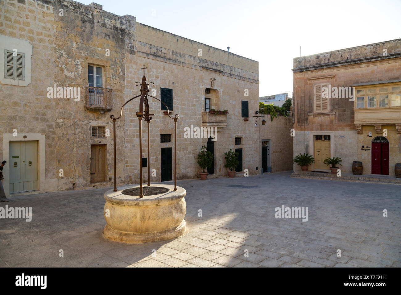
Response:
[{"label": "bright, pale cloudless sky above the rooftops", "polygon": [[[88,0],[259,62],[259,96],[290,92],[292,59],[401,38],[401,0]],[[400,49],[401,50],[401,49]]]}]

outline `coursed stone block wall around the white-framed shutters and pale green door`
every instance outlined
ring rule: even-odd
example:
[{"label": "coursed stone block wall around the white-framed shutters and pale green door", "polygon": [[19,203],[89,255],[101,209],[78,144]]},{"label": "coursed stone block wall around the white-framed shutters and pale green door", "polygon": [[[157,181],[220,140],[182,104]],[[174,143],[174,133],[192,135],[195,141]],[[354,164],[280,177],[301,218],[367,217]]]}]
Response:
[{"label": "coursed stone block wall around the white-framed shutters and pale green door", "polygon": [[[40,175],[48,180],[48,187],[42,187],[44,191],[53,187],[49,180],[56,178],[56,108],[53,99],[46,96],[47,85],[54,83],[53,61],[57,56],[52,47],[55,31],[53,2],[0,0],[0,34],[28,40],[33,50],[29,74],[31,83],[26,87],[1,85],[0,141],[3,141],[3,134],[11,134],[13,129],[20,134],[45,134],[46,156],[50,161],[46,161],[45,175]],[[2,144],[0,158],[3,159]]]}]

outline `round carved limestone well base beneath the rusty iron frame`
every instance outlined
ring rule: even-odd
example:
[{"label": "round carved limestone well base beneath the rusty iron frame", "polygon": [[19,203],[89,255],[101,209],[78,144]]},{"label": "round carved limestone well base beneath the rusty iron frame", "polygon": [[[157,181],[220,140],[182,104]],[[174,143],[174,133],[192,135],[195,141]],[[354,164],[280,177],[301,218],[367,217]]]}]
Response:
[{"label": "round carved limestone well base beneath the rusty iron frame", "polygon": [[[186,190],[174,185],[125,185],[104,194],[103,215],[107,222],[103,236],[125,243],[146,243],[169,240],[184,234],[186,223]],[[109,211],[107,211],[109,210]]]}]

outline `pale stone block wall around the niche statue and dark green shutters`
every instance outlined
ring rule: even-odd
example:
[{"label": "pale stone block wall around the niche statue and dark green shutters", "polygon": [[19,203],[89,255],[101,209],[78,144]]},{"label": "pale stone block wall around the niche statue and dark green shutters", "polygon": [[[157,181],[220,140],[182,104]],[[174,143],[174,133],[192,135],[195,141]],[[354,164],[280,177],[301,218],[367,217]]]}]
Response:
[{"label": "pale stone block wall around the niche statue and dark green shutters", "polygon": [[[197,164],[197,155],[207,138],[184,138],[184,128],[201,127],[202,112],[205,104],[205,89],[218,91],[219,98],[212,102],[211,108],[227,109],[228,126],[217,134],[215,142],[215,175],[227,175],[224,167],[224,153],[234,146],[235,137],[243,137],[240,148],[243,149],[243,169],[255,174],[256,166],[260,166],[258,154],[258,133],[253,130],[252,120],[245,122],[241,117],[241,100],[249,101],[249,116],[258,110],[259,84],[257,62],[239,57],[173,35],[143,24],[136,24],[138,38],[137,58],[127,62],[127,77],[131,85],[141,81],[143,64],[145,64],[148,83],[156,85],[156,97],[160,98],[160,87],[173,90],[173,115],[179,114],[177,122],[177,179],[198,177],[202,171]],[[174,40],[174,43],[172,41]],[[201,47],[203,46],[203,47]],[[203,49],[203,56],[198,56],[198,48]],[[207,50],[205,49],[207,48]],[[238,68],[239,67],[239,68]],[[249,70],[247,70],[249,69]],[[215,85],[211,87],[211,78]],[[127,92],[126,100],[138,95],[136,90]],[[249,96],[244,96],[245,89]],[[160,181],[160,148],[173,148],[174,164],[174,121],[160,110],[160,102],[150,98],[152,116],[150,122],[150,169],[156,169],[156,177],[151,181]],[[132,108],[126,108],[126,180],[139,179],[139,127],[135,111],[138,102],[130,103]],[[142,157],[147,157],[147,131],[142,121]],[[160,134],[172,134],[171,142],[160,143]],[[174,169],[174,168],[173,168]],[[147,179],[147,168],[143,169]],[[174,173],[174,171],[173,171]]]}]

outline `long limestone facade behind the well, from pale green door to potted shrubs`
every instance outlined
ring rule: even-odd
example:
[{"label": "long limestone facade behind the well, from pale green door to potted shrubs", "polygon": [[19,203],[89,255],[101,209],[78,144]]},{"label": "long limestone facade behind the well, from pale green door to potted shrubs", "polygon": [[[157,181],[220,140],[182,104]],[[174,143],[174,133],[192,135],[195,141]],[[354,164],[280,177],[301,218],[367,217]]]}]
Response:
[{"label": "long limestone facade behind the well, from pale green door to potted shrubs", "polygon": [[[279,147],[292,146],[292,138],[280,138],[281,132],[269,134],[260,122],[255,127],[257,61],[141,24],[134,16],[117,16],[95,3],[0,0],[0,15],[0,158],[9,162],[7,194],[111,186],[110,115],[119,116],[124,102],[139,94],[135,83],[144,66],[154,96],[180,115],[178,179],[198,177],[196,158],[203,145],[215,156],[210,177],[227,175],[223,160],[229,149],[241,152],[238,175],[245,169],[253,175],[262,166],[262,139],[273,146],[277,137],[277,159],[285,157]],[[127,104],[117,121],[117,185],[138,182],[139,162],[144,175],[147,169],[154,172],[150,181],[171,180],[174,124],[160,102],[150,102],[155,114],[150,156],[143,138],[140,161],[137,108],[137,100]],[[292,118],[284,121],[278,128],[292,124]],[[191,126],[216,128],[216,140],[186,138]],[[273,171],[290,169],[280,160]]]}]

